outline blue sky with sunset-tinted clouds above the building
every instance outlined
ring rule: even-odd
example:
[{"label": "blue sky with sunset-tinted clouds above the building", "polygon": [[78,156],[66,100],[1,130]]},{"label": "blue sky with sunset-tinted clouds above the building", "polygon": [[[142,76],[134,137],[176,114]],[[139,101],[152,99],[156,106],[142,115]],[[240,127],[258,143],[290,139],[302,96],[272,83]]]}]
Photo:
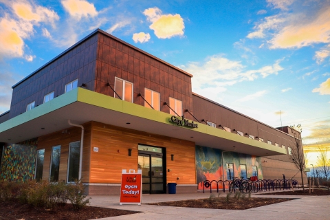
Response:
[{"label": "blue sky with sunset-tinted clouds above the building", "polygon": [[330,148],[330,0],[0,0],[0,113],[12,85],[96,28],[189,72],[201,96],[301,124],[310,164]]}]

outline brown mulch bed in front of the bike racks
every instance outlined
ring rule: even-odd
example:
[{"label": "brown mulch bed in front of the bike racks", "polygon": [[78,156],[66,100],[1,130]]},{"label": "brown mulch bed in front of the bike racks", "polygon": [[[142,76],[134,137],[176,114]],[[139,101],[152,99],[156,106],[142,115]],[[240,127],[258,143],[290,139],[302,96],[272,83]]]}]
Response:
[{"label": "brown mulch bed in front of the bike racks", "polygon": [[183,201],[166,201],[159,203],[148,203],[155,206],[176,206],[189,208],[214,208],[214,209],[230,209],[230,210],[245,210],[260,206],[267,206],[274,203],[289,201],[292,199],[274,199],[274,198],[230,198],[226,201],[225,197],[214,197],[211,199],[190,199]]}]

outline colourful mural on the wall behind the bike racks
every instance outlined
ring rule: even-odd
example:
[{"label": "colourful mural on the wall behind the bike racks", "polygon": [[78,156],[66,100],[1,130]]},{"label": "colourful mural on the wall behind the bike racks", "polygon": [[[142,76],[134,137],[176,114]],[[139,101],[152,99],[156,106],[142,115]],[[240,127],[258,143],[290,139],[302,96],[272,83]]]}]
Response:
[{"label": "colourful mural on the wall behind the bike racks", "polygon": [[[196,171],[198,189],[203,189],[203,181],[232,179],[233,177],[258,176],[263,179],[261,158],[235,152],[223,152],[215,148],[196,146]],[[224,167],[223,167],[224,165]],[[224,171],[224,172],[223,172]],[[212,188],[217,188],[212,184]]]}]

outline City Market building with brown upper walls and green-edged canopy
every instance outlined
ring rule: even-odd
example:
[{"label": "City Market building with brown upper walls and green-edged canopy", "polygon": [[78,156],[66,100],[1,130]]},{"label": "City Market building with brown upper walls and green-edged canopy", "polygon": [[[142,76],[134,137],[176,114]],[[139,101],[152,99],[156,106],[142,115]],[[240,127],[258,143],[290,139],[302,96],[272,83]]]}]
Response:
[{"label": "City Market building with brown upper walls and green-edged canopy", "polygon": [[81,177],[89,195],[111,195],[122,169],[142,169],[145,193],[171,182],[178,193],[196,192],[206,179],[298,173],[287,155],[291,129],[192,93],[191,78],[92,32],[12,86],[10,111],[0,115],[0,179]]}]

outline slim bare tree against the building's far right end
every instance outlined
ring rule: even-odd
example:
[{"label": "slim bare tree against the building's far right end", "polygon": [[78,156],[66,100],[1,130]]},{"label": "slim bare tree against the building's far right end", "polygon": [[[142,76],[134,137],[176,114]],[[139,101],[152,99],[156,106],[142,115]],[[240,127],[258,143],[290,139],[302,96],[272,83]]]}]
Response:
[{"label": "slim bare tree against the building's far right end", "polygon": [[301,141],[300,135],[302,132],[301,124],[298,124],[297,126],[290,126],[290,129],[292,131],[292,134],[294,135],[294,144],[290,145],[291,153],[289,151],[289,157],[291,157],[292,161],[294,162],[294,165],[300,171],[303,190],[305,190],[303,172],[305,171],[306,164],[303,150],[303,142]]}]

